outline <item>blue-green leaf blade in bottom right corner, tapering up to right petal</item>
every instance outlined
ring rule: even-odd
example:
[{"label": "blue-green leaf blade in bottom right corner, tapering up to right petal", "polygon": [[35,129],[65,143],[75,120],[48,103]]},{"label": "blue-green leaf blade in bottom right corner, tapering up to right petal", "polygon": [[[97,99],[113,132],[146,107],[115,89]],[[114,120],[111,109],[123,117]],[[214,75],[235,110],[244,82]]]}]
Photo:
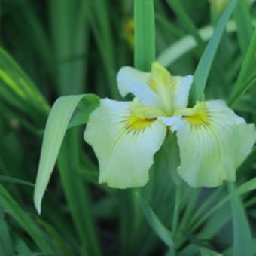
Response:
[{"label": "blue-green leaf blade in bottom right corner, tapering up to right petal", "polygon": [[229,182],[228,188],[233,213],[233,255],[252,256],[254,255],[253,241],[248,219],[245,215],[245,208],[236,194],[235,185]]}]

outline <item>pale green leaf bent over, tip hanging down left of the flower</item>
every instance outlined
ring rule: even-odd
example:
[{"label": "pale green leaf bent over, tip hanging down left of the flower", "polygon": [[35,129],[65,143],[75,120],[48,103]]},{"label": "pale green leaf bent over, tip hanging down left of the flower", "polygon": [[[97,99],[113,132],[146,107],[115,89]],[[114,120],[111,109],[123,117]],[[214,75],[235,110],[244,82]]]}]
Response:
[{"label": "pale green leaf bent over, tip hanging down left of the flower", "polygon": [[[41,213],[41,200],[50,180],[50,175],[53,172],[53,167],[56,163],[62,140],[69,127],[69,122],[81,99],[84,98],[87,98],[87,102],[90,102],[91,98],[92,102],[95,100],[95,96],[91,94],[62,96],[56,100],[50,110],[41,148],[38,175],[35,182],[34,203],[38,213]],[[87,114],[90,114],[90,111],[91,108],[88,108]]]}]

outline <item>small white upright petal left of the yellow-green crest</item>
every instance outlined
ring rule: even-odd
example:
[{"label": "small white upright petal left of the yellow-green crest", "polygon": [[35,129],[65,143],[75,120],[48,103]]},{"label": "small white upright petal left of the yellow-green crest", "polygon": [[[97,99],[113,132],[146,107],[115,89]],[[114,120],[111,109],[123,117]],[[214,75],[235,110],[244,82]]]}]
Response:
[{"label": "small white upright petal left of the yellow-green crest", "polygon": [[141,72],[131,67],[123,67],[117,74],[117,86],[121,96],[133,93],[145,105],[158,107],[157,96],[148,86],[150,73]]}]

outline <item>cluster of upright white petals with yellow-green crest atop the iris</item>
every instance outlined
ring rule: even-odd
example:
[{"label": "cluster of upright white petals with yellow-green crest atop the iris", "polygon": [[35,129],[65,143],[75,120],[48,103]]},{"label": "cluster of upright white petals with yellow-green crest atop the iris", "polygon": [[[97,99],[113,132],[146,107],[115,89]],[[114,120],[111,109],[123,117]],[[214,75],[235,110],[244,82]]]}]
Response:
[{"label": "cluster of upright white petals with yellow-green crest atop the iris", "polygon": [[122,96],[133,93],[148,107],[160,108],[166,116],[187,106],[192,75],[173,76],[158,62],[153,62],[151,73],[123,67],[117,74],[118,89]]}]

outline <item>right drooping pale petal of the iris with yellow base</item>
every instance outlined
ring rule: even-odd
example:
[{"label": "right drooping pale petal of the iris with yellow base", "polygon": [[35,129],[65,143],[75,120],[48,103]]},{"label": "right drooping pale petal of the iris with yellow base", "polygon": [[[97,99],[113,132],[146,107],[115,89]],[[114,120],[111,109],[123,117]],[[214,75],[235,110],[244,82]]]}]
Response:
[{"label": "right drooping pale petal of the iris with yellow base", "polygon": [[221,100],[197,102],[185,109],[172,130],[177,131],[181,157],[178,173],[192,187],[235,181],[236,168],[256,139],[255,126],[246,124]]}]

